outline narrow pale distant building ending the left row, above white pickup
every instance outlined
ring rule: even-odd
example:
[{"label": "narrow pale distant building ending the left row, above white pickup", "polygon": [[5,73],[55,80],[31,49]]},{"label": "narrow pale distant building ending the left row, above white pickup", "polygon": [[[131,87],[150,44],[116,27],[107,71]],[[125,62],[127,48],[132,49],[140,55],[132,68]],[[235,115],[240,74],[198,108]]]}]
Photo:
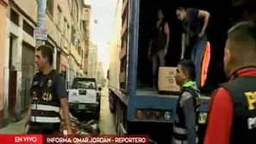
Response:
[{"label": "narrow pale distant building ending the left row, above white pickup", "polygon": [[88,76],[97,78],[97,45],[90,42],[88,56]]}]

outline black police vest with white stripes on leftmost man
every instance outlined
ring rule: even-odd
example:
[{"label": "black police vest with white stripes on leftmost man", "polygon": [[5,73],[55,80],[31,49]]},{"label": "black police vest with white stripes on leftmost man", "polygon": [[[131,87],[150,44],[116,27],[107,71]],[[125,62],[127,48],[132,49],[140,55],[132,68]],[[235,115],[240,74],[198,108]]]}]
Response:
[{"label": "black police vest with white stripes on leftmost man", "polygon": [[56,70],[52,70],[48,75],[41,73],[34,75],[30,89],[31,123],[60,123],[60,102],[55,90],[56,82],[53,81],[53,76],[56,76],[56,73],[58,73]]}]

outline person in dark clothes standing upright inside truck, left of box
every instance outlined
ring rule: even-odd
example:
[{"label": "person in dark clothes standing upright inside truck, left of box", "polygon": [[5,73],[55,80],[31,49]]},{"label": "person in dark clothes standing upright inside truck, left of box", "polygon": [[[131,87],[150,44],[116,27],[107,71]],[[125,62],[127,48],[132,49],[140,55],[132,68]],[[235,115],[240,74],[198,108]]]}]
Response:
[{"label": "person in dark clothes standing upright inside truck, left of box", "polygon": [[158,11],[158,21],[153,27],[153,38],[150,40],[148,57],[152,57],[153,87],[157,88],[157,73],[159,67],[165,66],[165,55],[170,41],[169,25],[165,21],[162,9]]}]

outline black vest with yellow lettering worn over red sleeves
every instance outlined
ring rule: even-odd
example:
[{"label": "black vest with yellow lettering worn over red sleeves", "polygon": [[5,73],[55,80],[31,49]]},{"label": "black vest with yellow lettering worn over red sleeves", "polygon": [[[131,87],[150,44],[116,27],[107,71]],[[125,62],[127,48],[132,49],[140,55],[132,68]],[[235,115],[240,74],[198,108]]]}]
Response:
[{"label": "black vest with yellow lettering worn over red sleeves", "polygon": [[[230,144],[256,143],[256,76],[241,76],[224,84],[233,102]],[[220,117],[220,121],[222,117]]]}]

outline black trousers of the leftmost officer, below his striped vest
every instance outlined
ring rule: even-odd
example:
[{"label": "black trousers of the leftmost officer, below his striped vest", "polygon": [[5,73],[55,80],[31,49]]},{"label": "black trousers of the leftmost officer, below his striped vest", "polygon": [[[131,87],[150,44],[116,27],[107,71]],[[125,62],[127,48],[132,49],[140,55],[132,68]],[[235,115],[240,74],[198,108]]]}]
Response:
[{"label": "black trousers of the leftmost officer, below his striped vest", "polygon": [[29,123],[27,134],[59,134],[60,123]]}]

